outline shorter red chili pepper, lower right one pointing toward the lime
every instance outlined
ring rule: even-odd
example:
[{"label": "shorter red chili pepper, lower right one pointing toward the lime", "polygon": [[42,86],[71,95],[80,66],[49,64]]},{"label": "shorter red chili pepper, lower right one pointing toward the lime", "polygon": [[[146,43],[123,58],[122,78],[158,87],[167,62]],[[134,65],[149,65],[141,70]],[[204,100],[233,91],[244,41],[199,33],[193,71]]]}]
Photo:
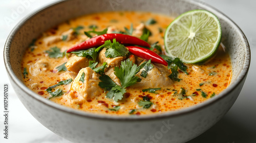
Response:
[{"label": "shorter red chili pepper, lower right one pointing toward the lime", "polygon": [[165,66],[168,65],[168,63],[161,56],[159,56],[157,53],[151,50],[145,49],[143,47],[138,47],[138,46],[126,46],[126,47],[128,48],[129,52],[134,54],[135,56],[138,56],[146,60],[151,59],[152,62],[160,63]]}]

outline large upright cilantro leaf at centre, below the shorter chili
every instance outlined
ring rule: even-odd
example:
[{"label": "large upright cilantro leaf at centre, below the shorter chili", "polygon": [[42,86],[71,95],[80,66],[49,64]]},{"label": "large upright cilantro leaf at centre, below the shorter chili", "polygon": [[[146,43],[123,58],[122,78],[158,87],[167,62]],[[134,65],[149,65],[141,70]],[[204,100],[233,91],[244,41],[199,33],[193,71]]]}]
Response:
[{"label": "large upright cilantro leaf at centre, below the shorter chili", "polygon": [[121,62],[120,68],[115,67],[115,75],[120,80],[122,87],[129,87],[137,83],[139,77],[135,76],[137,65],[133,64],[130,59]]}]

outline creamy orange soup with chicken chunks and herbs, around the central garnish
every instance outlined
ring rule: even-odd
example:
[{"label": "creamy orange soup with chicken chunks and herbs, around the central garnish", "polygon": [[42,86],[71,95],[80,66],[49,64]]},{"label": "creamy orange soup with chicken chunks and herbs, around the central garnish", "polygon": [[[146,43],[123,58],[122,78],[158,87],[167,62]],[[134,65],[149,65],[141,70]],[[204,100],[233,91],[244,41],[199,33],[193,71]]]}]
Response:
[{"label": "creamy orange soup with chicken chunks and herbs, around the central garnish", "polygon": [[[172,20],[173,17],[149,12],[104,12],[61,23],[42,33],[27,49],[22,61],[24,83],[39,96],[55,103],[99,114],[161,113],[197,105],[218,96],[229,85],[232,76],[229,55],[221,47],[216,56],[204,64],[184,63],[187,69],[178,68],[176,78],[169,76],[174,74],[170,69],[172,66],[148,63],[132,54],[106,58],[104,52],[108,49],[101,49],[94,63],[98,62],[96,67],[99,68],[104,61],[107,64],[103,73],[96,73],[89,63],[93,60],[90,56],[66,53],[70,47],[90,39],[90,36],[101,35],[97,32],[105,29],[103,33],[124,33],[138,38],[150,34],[147,42],[153,44],[151,50],[165,55],[163,35]],[[147,62],[153,67],[146,70],[144,66],[135,75],[140,82],[122,87],[122,80],[114,72],[115,66],[120,68],[124,61],[132,61],[136,67]],[[141,76],[142,72],[147,74],[145,78]],[[104,82],[100,77],[105,75],[116,87],[122,88],[112,88],[111,91],[99,86]]]}]

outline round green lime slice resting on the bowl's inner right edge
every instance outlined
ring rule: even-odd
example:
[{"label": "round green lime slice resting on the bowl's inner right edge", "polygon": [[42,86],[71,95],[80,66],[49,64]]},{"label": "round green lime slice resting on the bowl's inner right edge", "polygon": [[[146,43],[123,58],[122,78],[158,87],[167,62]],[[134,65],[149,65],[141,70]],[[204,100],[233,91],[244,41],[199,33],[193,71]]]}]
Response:
[{"label": "round green lime slice resting on the bowl's inner right edge", "polygon": [[206,10],[191,10],[178,16],[167,27],[164,44],[167,54],[185,63],[202,63],[218,50],[221,24]]}]

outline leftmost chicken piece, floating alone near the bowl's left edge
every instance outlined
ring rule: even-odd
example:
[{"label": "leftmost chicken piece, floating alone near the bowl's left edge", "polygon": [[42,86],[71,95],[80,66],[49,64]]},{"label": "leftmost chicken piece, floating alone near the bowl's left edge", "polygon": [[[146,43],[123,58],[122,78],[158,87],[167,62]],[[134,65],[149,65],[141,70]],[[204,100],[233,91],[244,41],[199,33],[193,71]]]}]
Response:
[{"label": "leftmost chicken piece, floating alone near the bowl's left edge", "polygon": [[42,58],[40,60],[37,60],[35,64],[31,65],[29,67],[29,73],[32,76],[37,76],[42,71],[46,71],[49,69],[49,61],[45,58]]}]

